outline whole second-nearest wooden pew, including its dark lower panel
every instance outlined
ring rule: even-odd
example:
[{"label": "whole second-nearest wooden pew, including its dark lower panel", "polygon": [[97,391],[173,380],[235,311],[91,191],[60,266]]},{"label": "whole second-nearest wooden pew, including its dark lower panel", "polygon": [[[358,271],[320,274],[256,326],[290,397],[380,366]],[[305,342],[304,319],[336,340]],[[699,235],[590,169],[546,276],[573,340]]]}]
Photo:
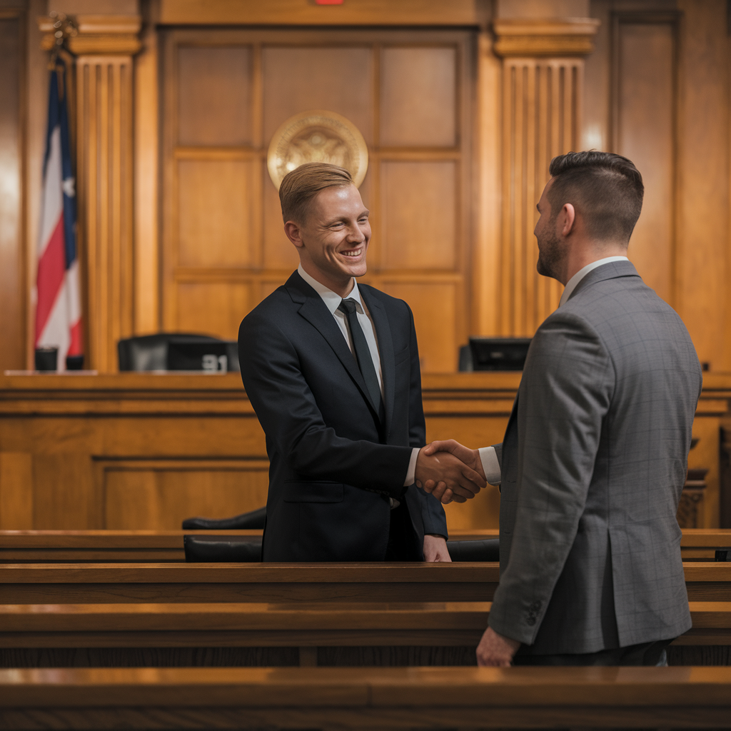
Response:
[{"label": "whole second-nearest wooden pew, including its dark lower panel", "polygon": [[[0,665],[167,666],[186,656],[188,664],[474,665],[490,609],[489,602],[0,605]],[[723,646],[728,654],[731,602],[691,602],[690,610],[693,627],[674,645]],[[242,651],[199,653],[194,663],[196,654],[180,648]]]}]

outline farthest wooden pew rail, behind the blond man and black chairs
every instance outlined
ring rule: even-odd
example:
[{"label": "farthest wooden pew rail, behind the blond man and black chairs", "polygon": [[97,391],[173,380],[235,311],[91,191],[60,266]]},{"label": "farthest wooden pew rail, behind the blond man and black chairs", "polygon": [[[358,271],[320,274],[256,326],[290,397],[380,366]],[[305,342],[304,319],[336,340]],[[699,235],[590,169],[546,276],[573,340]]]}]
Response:
[{"label": "farthest wooden pew rail, behind the blond man and black chairs", "polygon": [[[498,537],[497,529],[452,531],[454,540]],[[0,531],[0,563],[185,561],[184,535],[235,535],[260,539],[262,531]],[[731,548],[731,529],[684,529],[684,561],[713,561]]]}]

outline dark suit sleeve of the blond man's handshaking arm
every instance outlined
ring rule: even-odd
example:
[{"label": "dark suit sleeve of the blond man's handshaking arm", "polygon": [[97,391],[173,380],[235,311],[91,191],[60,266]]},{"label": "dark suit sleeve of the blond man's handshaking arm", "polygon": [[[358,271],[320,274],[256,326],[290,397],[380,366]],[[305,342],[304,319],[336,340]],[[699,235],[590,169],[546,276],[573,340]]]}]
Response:
[{"label": "dark suit sleeve of the blond man's handshaking arm", "polygon": [[[300,474],[335,480],[399,498],[412,450],[345,439],[325,425],[295,347],[277,327],[256,313],[239,329],[241,378],[251,405],[276,451]],[[255,344],[255,345],[254,345]]]}]

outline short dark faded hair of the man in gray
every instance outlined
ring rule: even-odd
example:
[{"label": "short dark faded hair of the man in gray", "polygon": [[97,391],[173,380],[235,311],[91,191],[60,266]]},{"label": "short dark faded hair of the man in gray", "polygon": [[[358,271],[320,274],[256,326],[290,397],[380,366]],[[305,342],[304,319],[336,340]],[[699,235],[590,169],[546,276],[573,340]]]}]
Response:
[{"label": "short dark faded hair of the man in gray", "polygon": [[631,160],[610,152],[569,152],[554,157],[546,197],[551,216],[571,203],[583,216],[586,232],[598,241],[629,243],[642,211],[645,186]]}]

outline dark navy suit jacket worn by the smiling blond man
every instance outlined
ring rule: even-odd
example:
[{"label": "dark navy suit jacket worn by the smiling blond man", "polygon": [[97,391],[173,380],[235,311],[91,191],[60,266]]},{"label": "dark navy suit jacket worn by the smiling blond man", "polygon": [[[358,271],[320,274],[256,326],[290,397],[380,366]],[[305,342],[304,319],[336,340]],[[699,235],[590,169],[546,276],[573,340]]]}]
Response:
[{"label": "dark navy suit jacket worn by the smiling blond man", "polygon": [[378,339],[383,423],[335,318],[297,272],[241,323],[241,377],[270,461],[265,561],[382,561],[390,497],[406,505],[416,545],[447,536],[439,501],[404,488],[412,448],[425,444],[412,312],[358,289]]}]

